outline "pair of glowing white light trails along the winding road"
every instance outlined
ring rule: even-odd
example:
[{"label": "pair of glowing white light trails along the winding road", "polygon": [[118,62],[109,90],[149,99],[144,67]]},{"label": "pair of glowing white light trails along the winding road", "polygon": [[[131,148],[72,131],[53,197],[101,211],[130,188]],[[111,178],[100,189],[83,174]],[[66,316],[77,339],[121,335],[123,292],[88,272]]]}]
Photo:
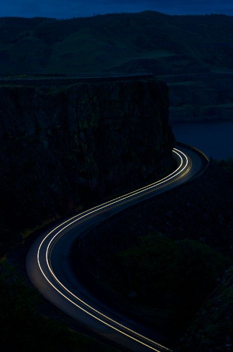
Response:
[{"label": "pair of glowing white light trails along the winding road", "polygon": [[[103,314],[102,312],[98,311],[94,307],[90,306],[87,302],[84,302],[80,297],[77,297],[73,292],[71,292],[67,287],[65,287],[59,279],[56,277],[54,274],[54,271],[52,269],[51,265],[51,260],[50,256],[52,253],[52,249],[54,248],[54,245],[57,243],[57,241],[65,235],[66,232],[71,230],[73,227],[80,225],[84,221],[89,220],[90,218],[100,215],[103,212],[106,212],[112,208],[121,206],[125,203],[132,202],[133,200],[143,197],[147,195],[148,193],[154,192],[159,190],[162,187],[168,186],[169,184],[177,181],[181,177],[184,177],[184,175],[189,172],[191,168],[191,161],[188,160],[187,156],[180,150],[174,148],[173,153],[175,153],[179,159],[180,159],[180,164],[176,168],[175,171],[171,172],[169,175],[164,177],[161,180],[158,180],[148,186],[142,187],[138,190],[135,190],[133,192],[127,193],[123,196],[117,197],[113,200],[110,200],[108,202],[105,202],[103,204],[100,204],[99,206],[96,206],[94,208],[91,208],[89,210],[86,210],[82,212],[81,214],[78,214],[76,216],[73,216],[72,218],[64,221],[62,224],[58,225],[55,227],[52,231],[50,231],[41,241],[38,252],[37,252],[37,261],[38,265],[40,268],[41,273],[43,274],[44,278],[47,280],[47,282],[62,296],[64,297],[67,301],[75,305],[77,308],[82,310],[83,312],[87,313],[89,316],[95,318],[96,320],[100,321],[101,323],[111,327],[115,331],[131,338],[132,340],[139,342],[140,344],[156,351],[156,352],[161,352],[163,351],[170,351],[169,348],[147,338],[146,336],[130,329],[127,326],[124,326],[123,324],[120,324],[119,322],[115,321],[114,319],[110,318],[109,316]],[[189,164],[189,166],[188,166]],[[182,173],[183,172],[183,173]],[[49,237],[52,236],[50,239]],[[62,291],[60,291],[54,283],[51,282],[51,280],[47,277],[45,272],[42,269],[42,264],[40,261],[40,255],[42,251],[42,246],[45,243],[45,241],[48,241],[49,243],[46,244],[46,265],[47,268],[52,275],[53,279],[55,280],[55,283],[57,283],[60,287],[62,288],[66,294],[64,294]],[[71,299],[72,298],[72,299]],[[78,301],[79,304],[77,304],[75,301]],[[83,305],[85,308],[83,308],[81,305]],[[157,349],[160,348],[160,349]]]}]

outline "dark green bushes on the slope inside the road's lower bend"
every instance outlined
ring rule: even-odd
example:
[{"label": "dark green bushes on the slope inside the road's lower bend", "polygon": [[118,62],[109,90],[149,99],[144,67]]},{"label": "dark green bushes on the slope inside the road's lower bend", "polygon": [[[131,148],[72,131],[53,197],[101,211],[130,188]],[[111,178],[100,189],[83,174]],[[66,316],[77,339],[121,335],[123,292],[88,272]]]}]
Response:
[{"label": "dark green bushes on the slope inside the road's lower bend", "polygon": [[[151,233],[113,258],[109,284],[125,298],[153,309],[154,323],[183,328],[231,261],[197,241]],[[133,298],[133,300],[132,300]]]}]

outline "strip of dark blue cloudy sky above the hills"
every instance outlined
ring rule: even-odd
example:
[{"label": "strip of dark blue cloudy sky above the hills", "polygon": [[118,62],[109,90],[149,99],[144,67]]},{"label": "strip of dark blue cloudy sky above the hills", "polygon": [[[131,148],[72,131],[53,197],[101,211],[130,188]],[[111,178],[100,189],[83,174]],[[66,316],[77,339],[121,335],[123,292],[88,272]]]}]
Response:
[{"label": "strip of dark blue cloudy sky above the hills", "polygon": [[115,12],[155,10],[166,14],[226,14],[233,16],[232,0],[2,0],[0,17],[71,18]]}]

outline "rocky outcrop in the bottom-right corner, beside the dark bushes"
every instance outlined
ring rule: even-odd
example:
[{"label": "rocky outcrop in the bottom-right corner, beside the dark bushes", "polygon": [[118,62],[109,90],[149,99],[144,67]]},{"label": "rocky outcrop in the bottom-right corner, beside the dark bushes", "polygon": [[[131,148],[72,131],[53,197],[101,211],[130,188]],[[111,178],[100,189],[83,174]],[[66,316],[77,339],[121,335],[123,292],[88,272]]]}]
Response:
[{"label": "rocky outcrop in the bottom-right corner, beside the dark bushes", "polygon": [[208,297],[181,339],[176,352],[232,351],[233,268],[226,271],[218,288]]}]

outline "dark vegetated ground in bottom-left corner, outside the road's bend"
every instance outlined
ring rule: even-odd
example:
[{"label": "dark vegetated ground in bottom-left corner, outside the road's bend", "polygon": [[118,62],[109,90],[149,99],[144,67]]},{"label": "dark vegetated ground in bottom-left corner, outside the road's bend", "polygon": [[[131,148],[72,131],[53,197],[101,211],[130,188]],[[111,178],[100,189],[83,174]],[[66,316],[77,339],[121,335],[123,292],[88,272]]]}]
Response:
[{"label": "dark vegetated ground in bottom-left corner, outside the road's bend", "polygon": [[84,334],[69,329],[60,321],[48,319],[38,312],[40,295],[7,264],[0,267],[0,321],[2,351],[103,351],[107,347]]}]

